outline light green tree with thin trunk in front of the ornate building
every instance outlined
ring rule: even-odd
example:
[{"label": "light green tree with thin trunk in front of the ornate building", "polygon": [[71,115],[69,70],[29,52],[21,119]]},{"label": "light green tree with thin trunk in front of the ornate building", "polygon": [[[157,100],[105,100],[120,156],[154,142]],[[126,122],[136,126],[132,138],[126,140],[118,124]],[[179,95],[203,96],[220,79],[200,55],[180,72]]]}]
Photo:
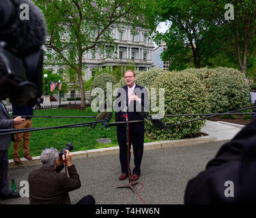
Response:
[{"label": "light green tree with thin trunk in front of the ornate building", "polygon": [[113,52],[113,27],[125,26],[153,29],[147,14],[151,0],[37,0],[48,28],[45,46],[54,50],[48,64],[66,65],[79,78],[81,106],[85,106],[83,55],[88,52]]}]

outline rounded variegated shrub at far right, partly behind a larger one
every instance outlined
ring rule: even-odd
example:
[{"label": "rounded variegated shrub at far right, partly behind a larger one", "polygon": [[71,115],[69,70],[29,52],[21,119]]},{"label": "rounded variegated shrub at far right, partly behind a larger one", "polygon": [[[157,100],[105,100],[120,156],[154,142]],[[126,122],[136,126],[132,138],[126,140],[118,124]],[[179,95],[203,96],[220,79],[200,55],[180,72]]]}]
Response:
[{"label": "rounded variegated shrub at far right, partly behind a larger one", "polygon": [[[227,67],[185,69],[195,74],[210,93],[210,111],[229,112],[245,108],[250,102],[249,86],[242,72]],[[181,72],[181,73],[182,73]]]}]

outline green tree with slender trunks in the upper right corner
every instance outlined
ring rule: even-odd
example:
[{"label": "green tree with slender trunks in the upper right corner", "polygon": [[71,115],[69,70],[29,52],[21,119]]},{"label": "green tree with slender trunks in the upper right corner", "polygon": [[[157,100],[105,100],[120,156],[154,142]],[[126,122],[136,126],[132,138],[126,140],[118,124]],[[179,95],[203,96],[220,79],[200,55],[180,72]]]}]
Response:
[{"label": "green tree with slender trunks in the upper right corner", "polygon": [[248,57],[255,52],[256,1],[251,0],[192,0],[205,19],[214,20],[225,48],[236,58],[241,72],[246,76]]}]

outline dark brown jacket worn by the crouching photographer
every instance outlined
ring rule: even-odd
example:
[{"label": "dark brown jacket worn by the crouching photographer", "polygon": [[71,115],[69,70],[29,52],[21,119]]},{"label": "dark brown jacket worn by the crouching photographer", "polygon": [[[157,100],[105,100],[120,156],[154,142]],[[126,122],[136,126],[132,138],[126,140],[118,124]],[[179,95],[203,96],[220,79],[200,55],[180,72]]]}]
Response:
[{"label": "dark brown jacket worn by the crouching photographer", "polygon": [[29,173],[30,204],[71,204],[69,191],[79,189],[81,182],[74,165],[68,167],[68,177],[53,167],[43,166]]}]

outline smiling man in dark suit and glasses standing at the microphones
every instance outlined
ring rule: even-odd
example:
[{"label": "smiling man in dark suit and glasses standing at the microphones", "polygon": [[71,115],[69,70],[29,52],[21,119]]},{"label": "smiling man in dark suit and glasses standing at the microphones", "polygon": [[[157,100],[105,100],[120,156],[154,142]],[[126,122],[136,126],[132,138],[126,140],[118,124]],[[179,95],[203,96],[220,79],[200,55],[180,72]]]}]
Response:
[{"label": "smiling man in dark suit and glasses standing at the microphones", "polygon": [[[138,112],[141,112],[141,106],[143,106],[143,108],[148,108],[147,89],[135,83],[137,78],[131,69],[125,72],[124,78],[126,81],[126,86],[120,88],[117,91],[117,100],[115,104],[115,121],[126,121],[126,114],[128,116],[128,121],[143,120],[143,117]],[[129,124],[129,149],[130,145],[132,144],[135,166],[132,171],[132,176],[130,176],[130,181],[137,181],[139,175],[141,174],[141,160],[143,157],[144,133],[144,123]],[[125,125],[117,125],[117,140],[119,144],[119,160],[121,163],[122,170],[122,175],[119,176],[119,180],[124,180],[128,177],[128,173],[130,174],[130,168],[128,167],[127,159],[128,155]]]}]

